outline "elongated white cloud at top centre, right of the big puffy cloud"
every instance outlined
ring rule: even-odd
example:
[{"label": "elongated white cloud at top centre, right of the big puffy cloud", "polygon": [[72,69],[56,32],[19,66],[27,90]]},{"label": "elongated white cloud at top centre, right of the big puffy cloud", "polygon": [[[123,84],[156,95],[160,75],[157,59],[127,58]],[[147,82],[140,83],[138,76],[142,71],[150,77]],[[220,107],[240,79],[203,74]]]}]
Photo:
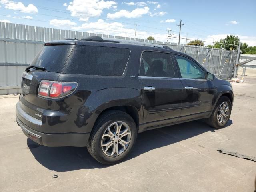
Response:
[{"label": "elongated white cloud at top centre, right of the big puffy cloud", "polygon": [[141,17],[142,15],[147,14],[147,13],[149,13],[148,7],[136,8],[136,9],[132,10],[131,12],[122,9],[122,10],[112,13],[112,14],[108,13],[107,18],[110,18],[110,19],[116,19],[116,18],[121,18],[121,17],[137,18],[137,17]]}]

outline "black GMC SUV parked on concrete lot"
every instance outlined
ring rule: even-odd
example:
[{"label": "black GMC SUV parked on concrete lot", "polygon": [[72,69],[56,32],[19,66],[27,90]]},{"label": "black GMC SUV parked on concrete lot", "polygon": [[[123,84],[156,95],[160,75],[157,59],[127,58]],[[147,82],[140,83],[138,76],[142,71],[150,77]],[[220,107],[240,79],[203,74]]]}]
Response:
[{"label": "black GMC SUV parked on concrete lot", "polygon": [[224,127],[232,103],[230,82],[186,54],[90,37],[44,44],[22,74],[16,120],[38,144],[87,146],[113,164],[145,130],[197,119]]}]

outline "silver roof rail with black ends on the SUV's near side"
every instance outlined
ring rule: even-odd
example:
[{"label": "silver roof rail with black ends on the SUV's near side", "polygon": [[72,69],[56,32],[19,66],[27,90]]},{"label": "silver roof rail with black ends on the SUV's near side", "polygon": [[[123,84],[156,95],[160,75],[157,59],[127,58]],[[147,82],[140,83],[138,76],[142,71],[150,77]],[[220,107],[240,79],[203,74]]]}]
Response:
[{"label": "silver roof rail with black ends on the SUV's near side", "polygon": [[105,38],[100,36],[89,36],[88,38],[82,38],[80,41],[99,41],[99,42],[110,42],[110,43],[123,43],[123,44],[132,44],[132,45],[140,45],[140,46],[150,46],[150,47],[157,47],[157,48],[164,48],[173,50],[172,48],[166,45],[159,45],[153,43],[146,43],[140,41],[131,41],[131,40],[124,40],[124,39],[114,39],[114,38]]}]

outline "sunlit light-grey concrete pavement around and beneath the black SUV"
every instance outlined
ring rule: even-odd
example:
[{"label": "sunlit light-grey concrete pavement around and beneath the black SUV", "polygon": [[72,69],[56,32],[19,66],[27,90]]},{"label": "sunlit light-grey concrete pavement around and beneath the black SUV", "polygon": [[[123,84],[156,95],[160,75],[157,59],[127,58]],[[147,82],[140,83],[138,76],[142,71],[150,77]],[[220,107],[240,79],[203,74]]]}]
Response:
[{"label": "sunlit light-grey concrete pavement around and beneath the black SUV", "polygon": [[245,80],[232,83],[225,128],[194,121],[143,132],[129,157],[112,166],[86,148],[38,146],[16,124],[18,96],[1,96],[0,191],[253,192],[256,162],[217,152],[256,156],[256,79]]}]

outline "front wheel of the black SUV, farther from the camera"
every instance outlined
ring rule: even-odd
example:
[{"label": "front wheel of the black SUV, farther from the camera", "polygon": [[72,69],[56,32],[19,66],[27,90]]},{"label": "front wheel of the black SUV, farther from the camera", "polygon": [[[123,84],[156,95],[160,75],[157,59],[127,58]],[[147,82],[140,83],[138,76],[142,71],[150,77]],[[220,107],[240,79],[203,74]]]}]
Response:
[{"label": "front wheel of the black SUV, farther from the camera", "polygon": [[226,96],[221,96],[218,100],[210,118],[205,119],[210,126],[220,129],[226,126],[230,118],[232,104]]}]

